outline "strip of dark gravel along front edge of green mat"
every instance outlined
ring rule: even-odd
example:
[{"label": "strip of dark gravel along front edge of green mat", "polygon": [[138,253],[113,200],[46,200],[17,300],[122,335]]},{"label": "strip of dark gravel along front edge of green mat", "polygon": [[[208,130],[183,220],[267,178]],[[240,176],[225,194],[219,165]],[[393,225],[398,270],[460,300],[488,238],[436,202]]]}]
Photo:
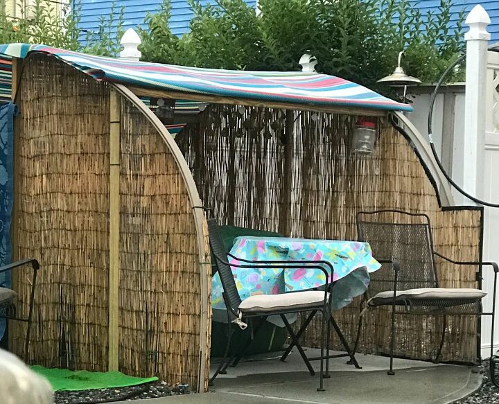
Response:
[{"label": "strip of dark gravel along front edge of green mat", "polygon": [[189,394],[188,385],[168,386],[163,381],[112,389],[91,389],[78,392],[55,392],[55,404],[112,403]]}]

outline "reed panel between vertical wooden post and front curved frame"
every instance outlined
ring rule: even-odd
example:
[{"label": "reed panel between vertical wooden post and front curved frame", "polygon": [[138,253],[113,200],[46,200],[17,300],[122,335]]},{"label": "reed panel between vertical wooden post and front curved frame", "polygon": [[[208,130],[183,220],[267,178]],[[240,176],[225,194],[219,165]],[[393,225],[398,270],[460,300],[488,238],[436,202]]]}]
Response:
[{"label": "reed panel between vertical wooden post and front curved frame", "polygon": [[146,116],[124,98],[121,110],[120,369],[196,386],[200,256],[189,195]]}]

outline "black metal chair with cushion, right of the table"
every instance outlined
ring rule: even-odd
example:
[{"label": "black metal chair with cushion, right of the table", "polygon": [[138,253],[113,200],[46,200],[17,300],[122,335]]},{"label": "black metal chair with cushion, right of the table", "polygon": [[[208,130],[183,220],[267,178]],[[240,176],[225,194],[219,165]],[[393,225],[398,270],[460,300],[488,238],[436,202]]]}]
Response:
[{"label": "black metal chair with cushion, right of the table", "polygon": [[[390,219],[388,219],[390,217]],[[398,217],[399,222],[394,218]],[[371,284],[365,295],[368,308],[392,306],[389,375],[393,375],[395,315],[422,314],[443,316],[441,340],[435,361],[439,360],[446,331],[446,315],[491,315],[492,335],[496,308],[496,283],[499,267],[491,262],[458,262],[435,252],[430,218],[422,213],[394,209],[360,211],[357,214],[358,239],[371,245],[374,257],[385,268],[371,274]],[[435,256],[455,265],[491,266],[494,271],[493,310],[484,313],[480,289],[439,288]],[[387,268],[388,267],[388,268]],[[480,272],[477,280],[480,279]],[[362,306],[361,306],[362,308]],[[362,315],[354,351],[358,347]],[[491,355],[492,355],[491,346]]]}]

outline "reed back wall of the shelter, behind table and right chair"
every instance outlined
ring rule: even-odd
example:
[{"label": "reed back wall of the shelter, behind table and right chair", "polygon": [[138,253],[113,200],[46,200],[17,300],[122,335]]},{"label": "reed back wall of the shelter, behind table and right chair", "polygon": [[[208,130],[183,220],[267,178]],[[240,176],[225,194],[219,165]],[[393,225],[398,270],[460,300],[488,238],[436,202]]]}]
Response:
[{"label": "reed back wall of the shelter, behind table and right chair", "polygon": [[[480,258],[476,209],[442,211],[435,189],[408,141],[383,118],[372,155],[351,152],[356,116],[211,105],[200,123],[177,135],[204,204],[223,225],[279,231],[304,238],[356,239],[356,213],[382,208],[430,216],[435,247],[459,260]],[[376,256],[376,252],[374,252]],[[476,287],[475,268],[439,264],[444,287]],[[354,340],[360,299],[335,313]],[[319,343],[319,321],[304,342]],[[428,359],[441,319],[399,316],[396,354]],[[476,357],[475,317],[449,318],[443,360]],[[334,338],[333,345],[340,347]],[[389,311],[369,310],[360,339],[365,352],[389,349]]]}]

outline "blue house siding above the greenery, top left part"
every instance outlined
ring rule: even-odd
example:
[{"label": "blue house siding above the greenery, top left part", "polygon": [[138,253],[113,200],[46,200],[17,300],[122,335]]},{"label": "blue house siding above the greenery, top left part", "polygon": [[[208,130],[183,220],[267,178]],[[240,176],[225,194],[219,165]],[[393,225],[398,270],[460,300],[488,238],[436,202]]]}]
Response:
[{"label": "blue house siding above the greenery, top left part", "polygon": [[[125,29],[136,28],[137,26],[146,28],[146,24],[143,24],[144,18],[148,12],[156,12],[158,10],[161,0],[147,0],[146,2],[140,0],[116,0],[114,3],[118,9],[121,7],[125,8]],[[202,6],[206,6],[210,1],[200,0],[200,3]],[[211,3],[213,3],[213,0]],[[81,0],[79,28],[81,30],[96,32],[99,25],[99,18],[109,15],[111,4],[112,1]],[[256,6],[256,0],[247,0],[247,4],[254,7]],[[182,35],[189,30],[189,21],[191,21],[193,13],[191,8],[189,8],[187,0],[172,0],[171,6],[170,28],[175,35]]]}]

